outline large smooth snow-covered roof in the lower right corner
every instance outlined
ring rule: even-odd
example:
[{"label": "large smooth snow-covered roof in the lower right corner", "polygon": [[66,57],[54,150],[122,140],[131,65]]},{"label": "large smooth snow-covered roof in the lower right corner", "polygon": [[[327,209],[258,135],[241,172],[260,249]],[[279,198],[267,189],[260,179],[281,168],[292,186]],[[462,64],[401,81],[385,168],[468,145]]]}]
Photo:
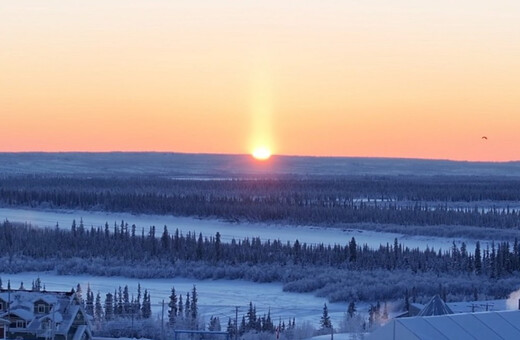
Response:
[{"label": "large smooth snow-covered roof in the lower right corner", "polygon": [[462,313],[393,319],[367,340],[520,339],[520,311]]}]

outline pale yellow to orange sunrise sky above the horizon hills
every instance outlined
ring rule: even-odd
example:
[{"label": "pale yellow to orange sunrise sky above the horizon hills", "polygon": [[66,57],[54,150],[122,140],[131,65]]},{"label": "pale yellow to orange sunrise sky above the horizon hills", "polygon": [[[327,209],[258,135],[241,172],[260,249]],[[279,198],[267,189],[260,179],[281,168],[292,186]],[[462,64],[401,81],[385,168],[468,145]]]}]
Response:
[{"label": "pale yellow to orange sunrise sky above the horizon hills", "polygon": [[517,0],[1,1],[0,151],[520,160],[519,22]]}]

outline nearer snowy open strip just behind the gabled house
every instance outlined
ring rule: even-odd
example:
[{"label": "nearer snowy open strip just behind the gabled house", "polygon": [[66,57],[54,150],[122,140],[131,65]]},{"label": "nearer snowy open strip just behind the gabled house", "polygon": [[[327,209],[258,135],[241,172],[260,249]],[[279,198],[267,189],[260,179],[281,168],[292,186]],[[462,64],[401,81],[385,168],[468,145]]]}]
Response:
[{"label": "nearer snowy open strip just behind the gabled house", "polygon": [[[256,305],[257,315],[262,316],[271,310],[271,316],[275,322],[282,318],[286,323],[289,319],[296,318],[297,323],[310,322],[318,327],[323,304],[327,303],[329,315],[334,325],[339,325],[347,310],[346,303],[329,303],[325,298],[316,297],[311,293],[289,293],[282,290],[280,283],[254,283],[242,280],[195,280],[195,279],[130,279],[125,277],[101,277],[101,276],[68,276],[46,272],[26,272],[18,274],[1,274],[4,288],[7,280],[11,281],[12,288],[20,287],[20,282],[25,288],[30,288],[31,283],[39,277],[47,290],[69,291],[79,283],[83,292],[87,285],[97,294],[101,293],[104,302],[105,294],[114,292],[119,286],[128,285],[130,293],[137,292],[137,284],[148,289],[151,294],[152,311],[158,315],[162,310],[162,300],[165,302],[165,313],[168,309],[168,298],[172,286],[177,293],[186,297],[196,285],[199,297],[199,309],[206,322],[211,316],[218,316],[225,327],[228,318],[235,318],[235,306],[239,306],[239,315],[245,314],[249,307],[249,301]],[[83,294],[85,296],[85,293]],[[165,314],[167,316],[167,314]],[[166,317],[165,316],[165,317]]]}]

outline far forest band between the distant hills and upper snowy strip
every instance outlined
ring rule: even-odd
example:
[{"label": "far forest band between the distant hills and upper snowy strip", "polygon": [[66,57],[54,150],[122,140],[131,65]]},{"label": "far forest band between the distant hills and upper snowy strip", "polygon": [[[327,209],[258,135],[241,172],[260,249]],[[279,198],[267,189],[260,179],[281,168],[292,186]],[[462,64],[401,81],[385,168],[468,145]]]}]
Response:
[{"label": "far forest band between the distant hills and upper snowy strip", "polygon": [[[495,205],[488,207],[490,201]],[[520,210],[508,206],[514,201],[520,201],[520,180],[473,177],[213,181],[27,176],[0,179],[0,203],[6,206],[294,224],[519,228]],[[484,209],[484,203],[488,208]]]}]

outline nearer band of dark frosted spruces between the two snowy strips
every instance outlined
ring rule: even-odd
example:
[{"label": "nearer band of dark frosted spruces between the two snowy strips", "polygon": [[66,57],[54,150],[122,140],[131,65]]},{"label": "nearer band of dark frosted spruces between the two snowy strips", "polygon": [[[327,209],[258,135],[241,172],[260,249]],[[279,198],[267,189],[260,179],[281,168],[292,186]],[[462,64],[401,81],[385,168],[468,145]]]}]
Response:
[{"label": "nearer band of dark frosted spruces between the two snowy strips", "polygon": [[401,298],[406,290],[415,291],[414,296],[432,295],[439,284],[450,294],[473,297],[478,291],[499,298],[520,281],[517,240],[483,249],[477,243],[473,253],[464,243],[444,252],[411,249],[397,240],[372,249],[358,245],[355,238],[333,246],[259,238],[223,243],[218,232],[212,237],[178,230],[170,234],[164,227],[159,234],[154,226],[137,232],[124,221],[103,228],[85,228],[74,221],[70,230],[5,221],[0,224],[0,256],[4,272],[54,269],[147,278],[278,281],[286,290],[316,291],[342,301]]}]

